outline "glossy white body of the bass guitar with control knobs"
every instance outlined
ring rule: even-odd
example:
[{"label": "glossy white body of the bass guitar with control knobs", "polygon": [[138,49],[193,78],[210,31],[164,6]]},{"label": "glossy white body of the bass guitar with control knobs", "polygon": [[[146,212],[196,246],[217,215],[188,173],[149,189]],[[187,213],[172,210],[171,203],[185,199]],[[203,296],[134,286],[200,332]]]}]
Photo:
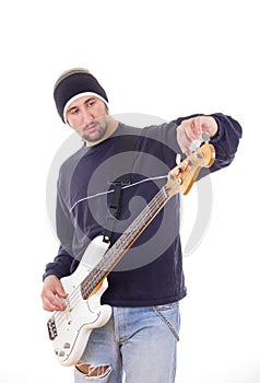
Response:
[{"label": "glossy white body of the bass guitar with control knobs", "polygon": [[61,278],[68,298],[66,310],[55,312],[48,321],[49,337],[58,361],[73,365],[81,358],[93,328],[105,325],[111,316],[111,307],[101,305],[101,297],[107,289],[107,279],[101,288],[86,300],[82,298],[81,282],[86,278],[108,248],[103,236],[97,236],[87,246],[80,265],[70,276]]}]

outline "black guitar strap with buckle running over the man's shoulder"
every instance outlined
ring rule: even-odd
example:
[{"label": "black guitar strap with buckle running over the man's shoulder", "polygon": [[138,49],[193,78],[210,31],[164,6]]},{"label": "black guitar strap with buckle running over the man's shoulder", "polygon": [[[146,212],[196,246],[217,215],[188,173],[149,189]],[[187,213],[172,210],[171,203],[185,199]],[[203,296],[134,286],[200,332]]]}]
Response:
[{"label": "black guitar strap with buckle running over the man's shoulder", "polygon": [[[134,154],[135,154],[140,132],[141,132],[141,129],[128,127],[128,126],[125,126],[123,129],[126,134],[125,135],[122,134],[118,139],[117,151],[118,153],[122,153],[122,152],[128,153],[128,156],[127,156],[128,161],[126,166],[126,174],[114,179],[113,182],[109,182],[109,184],[113,186],[113,195],[111,195],[110,204],[108,206],[106,227],[105,227],[104,236],[103,236],[103,241],[106,243],[110,242],[110,237],[115,229],[115,223],[119,216],[119,206],[120,206],[122,187],[131,184],[131,176],[132,176],[131,172],[134,163]],[[117,166],[118,164],[116,163],[116,156],[115,156],[115,161],[113,161],[114,170],[117,169]],[[131,172],[129,172],[129,170],[131,170]]]}]

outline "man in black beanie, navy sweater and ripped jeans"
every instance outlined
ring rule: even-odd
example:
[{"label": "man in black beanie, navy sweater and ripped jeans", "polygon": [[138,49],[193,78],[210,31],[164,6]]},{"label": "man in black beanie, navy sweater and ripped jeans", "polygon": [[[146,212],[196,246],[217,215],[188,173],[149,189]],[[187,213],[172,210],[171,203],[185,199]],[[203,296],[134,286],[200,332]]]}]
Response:
[{"label": "man in black beanie, navy sweater and ripped jeans", "polygon": [[[202,132],[210,136],[216,152],[210,171],[227,166],[237,150],[241,128],[220,113],[137,130],[127,127],[109,115],[105,90],[82,68],[61,74],[54,96],[63,123],[84,141],[60,169],[60,248],[44,275],[44,309],[62,312],[67,292],[60,278],[76,270],[90,242],[101,235],[111,247],[128,233],[165,184],[168,171],[176,166],[176,155],[190,154],[192,141],[201,140]],[[109,269],[108,288],[102,294],[102,304],[113,307],[111,316],[91,332],[75,363],[75,382],[119,383],[125,372],[128,383],[173,383],[178,302],[186,295],[178,195],[116,264]]]}]

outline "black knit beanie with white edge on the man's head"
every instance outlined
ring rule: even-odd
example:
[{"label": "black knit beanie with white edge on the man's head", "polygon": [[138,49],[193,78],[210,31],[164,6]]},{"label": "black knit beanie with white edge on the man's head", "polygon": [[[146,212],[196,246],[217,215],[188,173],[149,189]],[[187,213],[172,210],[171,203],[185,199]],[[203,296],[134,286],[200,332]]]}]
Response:
[{"label": "black knit beanie with white edge on the man's head", "polygon": [[86,69],[72,69],[61,76],[54,89],[54,97],[58,114],[63,123],[66,112],[72,101],[83,95],[95,95],[108,103],[106,92],[98,81]]}]

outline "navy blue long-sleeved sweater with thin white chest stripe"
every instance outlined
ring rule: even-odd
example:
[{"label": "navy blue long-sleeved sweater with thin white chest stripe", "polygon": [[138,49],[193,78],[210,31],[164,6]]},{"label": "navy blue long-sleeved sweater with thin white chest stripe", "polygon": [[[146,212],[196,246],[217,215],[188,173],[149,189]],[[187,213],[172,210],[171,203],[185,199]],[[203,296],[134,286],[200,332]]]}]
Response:
[{"label": "navy blue long-sleeved sweater with thin white chest stripe", "polygon": [[[60,247],[54,262],[47,264],[44,278],[48,275],[62,278],[76,269],[90,241],[104,234],[113,196],[110,182],[131,173],[131,184],[121,193],[119,217],[110,239],[115,243],[176,166],[176,154],[180,153],[176,127],[193,116],[141,129],[134,153],[132,143],[129,150],[125,144],[122,151],[119,137],[128,134],[128,127],[119,124],[110,138],[91,148],[83,147],[62,164],[57,198]],[[210,172],[233,161],[241,137],[241,127],[235,119],[220,113],[212,116],[218,124],[218,132],[211,140],[216,159]],[[202,171],[200,177],[205,174]],[[102,303],[149,306],[179,301],[185,295],[176,195],[108,275],[108,289]]]}]

